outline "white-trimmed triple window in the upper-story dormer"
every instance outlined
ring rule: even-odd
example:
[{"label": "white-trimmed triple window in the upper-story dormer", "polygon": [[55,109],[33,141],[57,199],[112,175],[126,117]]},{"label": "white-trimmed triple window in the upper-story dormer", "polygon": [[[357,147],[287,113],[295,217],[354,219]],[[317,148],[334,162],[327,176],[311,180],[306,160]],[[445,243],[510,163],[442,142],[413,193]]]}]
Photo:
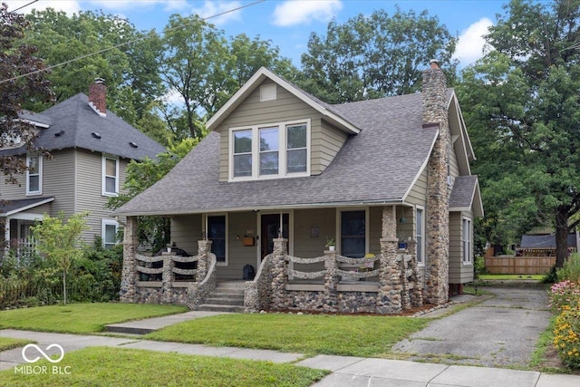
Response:
[{"label": "white-trimmed triple window in the upper-story dormer", "polygon": [[310,174],[310,120],[230,129],[230,180]]}]

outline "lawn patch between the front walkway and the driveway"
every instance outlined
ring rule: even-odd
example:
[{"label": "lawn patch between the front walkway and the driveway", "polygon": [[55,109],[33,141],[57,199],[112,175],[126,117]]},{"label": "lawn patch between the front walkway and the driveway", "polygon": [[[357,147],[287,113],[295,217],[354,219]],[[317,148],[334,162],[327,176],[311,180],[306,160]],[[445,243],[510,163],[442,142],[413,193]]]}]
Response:
[{"label": "lawn patch between the front walkway and the driveway", "polygon": [[282,352],[381,356],[430,319],[371,315],[226,314],[168,326],[145,338],[271,349]]}]

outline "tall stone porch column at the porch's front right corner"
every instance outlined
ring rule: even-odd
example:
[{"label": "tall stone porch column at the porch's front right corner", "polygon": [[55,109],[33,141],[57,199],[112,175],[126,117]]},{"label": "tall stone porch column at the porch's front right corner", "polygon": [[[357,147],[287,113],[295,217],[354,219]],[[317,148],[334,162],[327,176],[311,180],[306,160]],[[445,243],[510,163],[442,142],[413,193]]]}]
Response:
[{"label": "tall stone porch column at the porch's front right corner", "polygon": [[382,208],[381,261],[377,313],[401,312],[401,279],[397,262],[397,218],[395,206]]}]

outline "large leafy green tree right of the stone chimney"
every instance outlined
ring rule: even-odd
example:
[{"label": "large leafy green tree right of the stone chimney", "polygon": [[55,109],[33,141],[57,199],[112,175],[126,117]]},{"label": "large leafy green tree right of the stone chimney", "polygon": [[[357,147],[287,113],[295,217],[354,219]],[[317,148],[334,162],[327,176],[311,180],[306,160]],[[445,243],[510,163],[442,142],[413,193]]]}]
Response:
[{"label": "large leafy green tree right of the stone chimney", "polygon": [[485,186],[506,186],[492,216],[511,207],[523,231],[551,221],[562,266],[580,211],[580,1],[512,0],[504,8],[487,35],[488,54],[463,73],[460,88],[481,142],[475,169],[487,175]]}]

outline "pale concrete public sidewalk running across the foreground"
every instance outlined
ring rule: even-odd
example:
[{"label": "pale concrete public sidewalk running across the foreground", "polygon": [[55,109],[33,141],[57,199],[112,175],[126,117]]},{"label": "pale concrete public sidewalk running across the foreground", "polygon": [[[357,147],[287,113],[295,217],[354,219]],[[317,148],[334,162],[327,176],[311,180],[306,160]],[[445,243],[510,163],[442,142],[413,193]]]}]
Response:
[{"label": "pale concrete public sidewalk running across the foreground", "polygon": [[[88,346],[111,346],[139,348],[160,352],[261,360],[275,363],[295,363],[296,365],[333,372],[321,382],[314,384],[314,386],[324,387],[577,387],[580,385],[580,376],[574,375],[546,374],[534,371],[516,371],[462,365],[413,363],[399,360],[350,356],[317,355],[304,359],[304,354],[302,353],[278,353],[275,351],[247,348],[154,342],[141,340],[139,337],[117,338],[100,335],[50,334],[17,331],[13,329],[1,330],[0,336],[34,340],[42,349],[45,349],[52,343],[58,343],[64,350],[63,362],[66,361],[66,353]],[[47,353],[56,354],[56,352],[52,353],[53,350],[55,348],[47,351]],[[15,348],[0,353],[0,370],[10,369],[22,363],[24,363],[22,348]]]}]

